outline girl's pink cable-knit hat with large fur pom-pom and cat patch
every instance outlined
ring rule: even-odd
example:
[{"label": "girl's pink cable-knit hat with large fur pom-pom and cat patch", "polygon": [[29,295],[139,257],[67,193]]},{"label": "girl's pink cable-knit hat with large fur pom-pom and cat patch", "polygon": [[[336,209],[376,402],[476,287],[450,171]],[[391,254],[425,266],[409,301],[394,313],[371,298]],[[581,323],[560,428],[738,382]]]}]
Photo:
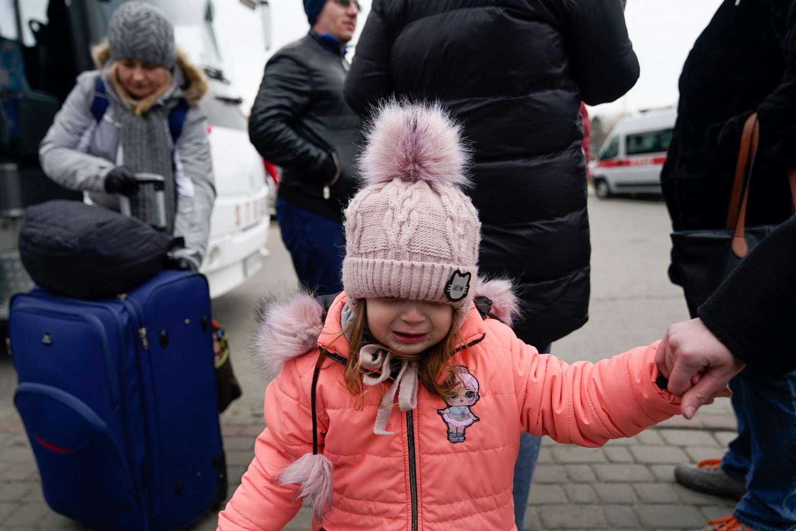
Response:
[{"label": "girl's pink cable-knit hat with large fur pom-pom and cat patch", "polygon": [[345,210],[343,287],[359,299],[395,297],[455,307],[473,299],[481,222],[462,192],[468,150],[438,104],[384,103],[358,161],[365,187]]}]

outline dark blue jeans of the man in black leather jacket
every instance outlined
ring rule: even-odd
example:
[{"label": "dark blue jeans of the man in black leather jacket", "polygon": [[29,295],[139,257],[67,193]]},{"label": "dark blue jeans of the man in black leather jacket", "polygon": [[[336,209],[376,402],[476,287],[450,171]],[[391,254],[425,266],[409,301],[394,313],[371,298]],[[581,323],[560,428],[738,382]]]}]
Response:
[{"label": "dark blue jeans of the man in black leather jacket", "polygon": [[298,280],[316,295],[342,291],[343,226],[279,197],[276,199],[276,219],[285,247],[291,253]]}]

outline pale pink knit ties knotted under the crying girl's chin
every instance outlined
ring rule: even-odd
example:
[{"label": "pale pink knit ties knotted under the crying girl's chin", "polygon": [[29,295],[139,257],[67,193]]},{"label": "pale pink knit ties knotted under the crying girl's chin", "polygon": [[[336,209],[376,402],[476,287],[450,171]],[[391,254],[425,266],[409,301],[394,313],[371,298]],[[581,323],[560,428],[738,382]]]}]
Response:
[{"label": "pale pink knit ties knotted under the crying girl's chin", "polygon": [[[340,321],[343,330],[353,321],[353,311],[348,303],[345,303],[341,310]],[[350,338],[349,338],[350,340]],[[392,373],[392,353],[381,349],[380,346],[364,342],[359,349],[359,362],[362,367],[373,372],[380,372],[375,376],[362,376],[362,383],[365,385],[379,385],[387,381]],[[373,433],[376,435],[394,435],[393,431],[387,431],[387,421],[392,412],[392,406],[398,394],[398,407],[401,411],[409,411],[417,407],[417,362],[401,361],[400,370],[392,385],[388,388],[379,402],[379,410],[376,413],[376,422],[373,424]]]}]

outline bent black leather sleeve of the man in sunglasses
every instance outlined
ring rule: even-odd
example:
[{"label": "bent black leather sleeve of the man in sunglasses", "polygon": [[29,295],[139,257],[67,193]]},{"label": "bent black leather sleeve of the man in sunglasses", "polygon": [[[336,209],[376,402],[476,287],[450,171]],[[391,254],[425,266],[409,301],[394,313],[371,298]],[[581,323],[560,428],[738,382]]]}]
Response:
[{"label": "bent black leather sleeve of the man in sunglasses", "polygon": [[272,57],[252,106],[249,140],[267,161],[323,184],[334,178],[334,161],[330,166],[329,152],[295,131],[311,95],[306,66],[292,57]]}]

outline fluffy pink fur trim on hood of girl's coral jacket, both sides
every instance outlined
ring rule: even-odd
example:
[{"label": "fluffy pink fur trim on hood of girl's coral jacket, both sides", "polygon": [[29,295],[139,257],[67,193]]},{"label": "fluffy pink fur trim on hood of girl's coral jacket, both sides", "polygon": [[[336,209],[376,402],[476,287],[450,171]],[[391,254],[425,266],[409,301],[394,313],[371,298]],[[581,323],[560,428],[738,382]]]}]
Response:
[{"label": "fluffy pink fur trim on hood of girl's coral jacket, both sides", "polygon": [[[509,280],[478,279],[474,290],[475,303],[482,314],[512,325],[520,310]],[[340,297],[334,299],[335,303]],[[318,347],[326,311],[318,299],[304,290],[260,299],[255,311],[253,346],[268,380],[276,377],[287,361]]]}]

